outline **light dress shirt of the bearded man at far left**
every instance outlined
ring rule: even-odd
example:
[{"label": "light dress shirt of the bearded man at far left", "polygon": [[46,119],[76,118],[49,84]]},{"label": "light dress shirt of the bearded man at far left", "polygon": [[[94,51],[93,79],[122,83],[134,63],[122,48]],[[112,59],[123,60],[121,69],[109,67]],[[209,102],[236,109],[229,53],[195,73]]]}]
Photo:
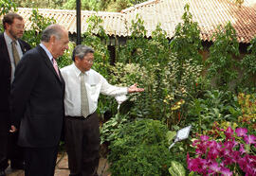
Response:
[{"label": "light dress shirt of the bearded man at far left", "polygon": [[[10,60],[10,66],[11,66],[10,81],[12,82],[14,79],[14,72],[15,72],[15,62],[14,62],[14,58],[13,58],[13,54],[12,54],[12,47],[11,47],[12,39],[9,37],[9,35],[6,32],[4,32],[4,37],[5,37],[5,41],[6,41],[6,44],[8,47],[8,52],[9,52],[9,60]],[[21,49],[21,45],[18,41],[16,41],[16,49],[18,51],[20,59],[22,59],[23,52]]]}]

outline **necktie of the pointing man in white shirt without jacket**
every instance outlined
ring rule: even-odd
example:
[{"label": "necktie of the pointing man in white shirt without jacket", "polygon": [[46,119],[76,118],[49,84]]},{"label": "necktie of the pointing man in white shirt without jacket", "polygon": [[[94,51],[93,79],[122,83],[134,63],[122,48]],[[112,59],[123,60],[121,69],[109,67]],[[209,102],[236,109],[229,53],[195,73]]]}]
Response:
[{"label": "necktie of the pointing man in white shirt without jacket", "polygon": [[80,74],[81,76],[81,114],[84,117],[87,117],[89,114],[89,103],[87,97],[87,91],[84,83],[84,73]]}]

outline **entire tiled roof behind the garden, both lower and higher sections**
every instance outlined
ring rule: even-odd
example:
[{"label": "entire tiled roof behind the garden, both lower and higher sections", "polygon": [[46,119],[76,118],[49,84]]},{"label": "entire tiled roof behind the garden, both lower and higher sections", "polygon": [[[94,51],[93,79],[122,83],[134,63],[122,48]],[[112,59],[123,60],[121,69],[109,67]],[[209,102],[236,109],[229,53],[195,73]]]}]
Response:
[{"label": "entire tiled roof behind the garden, both lower and higher sections", "polygon": [[[103,20],[102,26],[108,35],[130,35],[127,28],[138,13],[144,20],[147,37],[152,35],[155,26],[160,23],[168,37],[172,38],[175,26],[182,22],[181,17],[186,3],[190,5],[193,21],[200,27],[203,41],[210,41],[217,26],[225,26],[228,21],[236,29],[240,43],[249,43],[256,35],[256,0],[245,0],[240,8],[231,0],[149,0],[121,12],[82,10],[82,32],[87,28],[86,19],[96,14]],[[18,10],[18,13],[25,17],[28,28],[31,11],[32,9],[22,8]],[[76,32],[76,10],[39,9],[39,13],[45,17],[55,18],[57,23],[64,25],[69,32]]]}]

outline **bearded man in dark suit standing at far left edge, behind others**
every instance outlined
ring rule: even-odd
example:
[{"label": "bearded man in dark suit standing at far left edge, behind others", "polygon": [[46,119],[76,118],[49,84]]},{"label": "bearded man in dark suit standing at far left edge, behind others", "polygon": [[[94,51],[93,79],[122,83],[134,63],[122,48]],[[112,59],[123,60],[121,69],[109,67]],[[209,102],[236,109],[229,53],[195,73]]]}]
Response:
[{"label": "bearded man in dark suit standing at far left edge, behind others", "polygon": [[[17,62],[31,47],[20,38],[24,33],[23,17],[16,13],[9,13],[3,18],[4,33],[0,33],[0,176],[4,176],[5,169],[23,168],[23,152],[16,145],[17,133],[9,133],[9,93],[10,84],[14,78]],[[13,52],[16,49],[16,55]],[[15,59],[14,59],[15,55]]]}]

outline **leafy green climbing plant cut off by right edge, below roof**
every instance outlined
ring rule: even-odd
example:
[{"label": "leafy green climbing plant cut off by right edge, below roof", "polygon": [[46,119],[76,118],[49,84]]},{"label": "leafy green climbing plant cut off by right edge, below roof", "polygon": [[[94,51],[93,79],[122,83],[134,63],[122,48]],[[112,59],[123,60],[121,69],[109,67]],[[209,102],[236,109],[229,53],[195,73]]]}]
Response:
[{"label": "leafy green climbing plant cut off by right edge, below roof", "polygon": [[256,37],[247,47],[247,54],[241,62],[243,70],[242,87],[252,89],[256,87]]}]

